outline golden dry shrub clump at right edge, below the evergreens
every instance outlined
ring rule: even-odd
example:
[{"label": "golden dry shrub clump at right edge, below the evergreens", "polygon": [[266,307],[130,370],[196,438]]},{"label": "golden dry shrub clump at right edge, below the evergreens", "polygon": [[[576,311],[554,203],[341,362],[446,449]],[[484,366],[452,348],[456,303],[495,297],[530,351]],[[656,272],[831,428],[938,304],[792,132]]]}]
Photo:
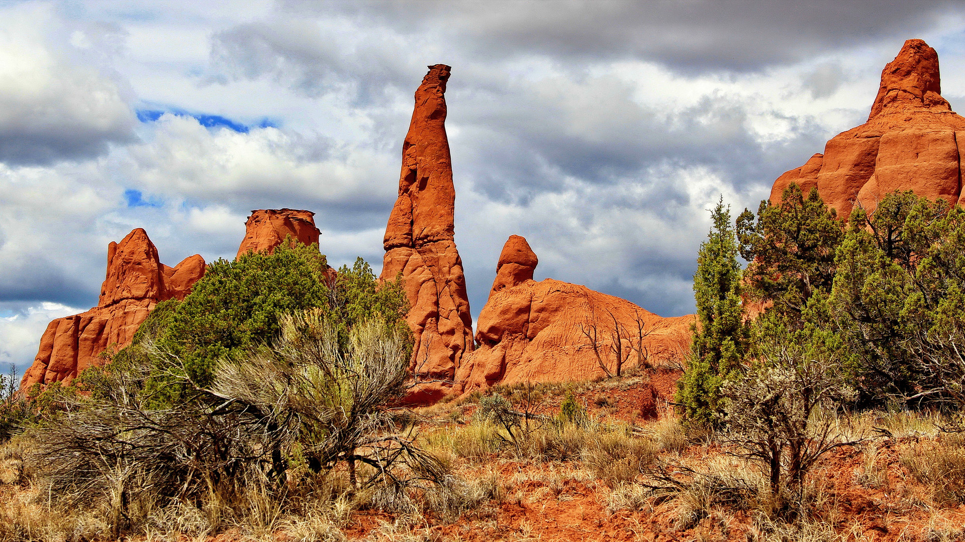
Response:
[{"label": "golden dry shrub clump at right edge, below the evergreens", "polygon": [[931,488],[939,504],[965,503],[965,435],[943,433],[901,453],[901,464]]}]

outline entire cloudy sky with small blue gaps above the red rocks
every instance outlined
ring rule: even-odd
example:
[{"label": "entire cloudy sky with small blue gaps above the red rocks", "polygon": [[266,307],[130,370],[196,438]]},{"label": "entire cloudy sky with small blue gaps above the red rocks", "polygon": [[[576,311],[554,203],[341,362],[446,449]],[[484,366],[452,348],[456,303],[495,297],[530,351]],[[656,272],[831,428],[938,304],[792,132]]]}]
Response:
[{"label": "entire cloudy sky with small blue gaps above the red rocks", "polygon": [[723,195],[867,119],[901,43],[965,102],[951,2],[0,1],[0,364],[96,305],[107,244],[234,257],[248,211],[315,211],[333,265],[381,267],[412,93],[453,67],[456,243],[478,314],[506,238],[662,315]]}]

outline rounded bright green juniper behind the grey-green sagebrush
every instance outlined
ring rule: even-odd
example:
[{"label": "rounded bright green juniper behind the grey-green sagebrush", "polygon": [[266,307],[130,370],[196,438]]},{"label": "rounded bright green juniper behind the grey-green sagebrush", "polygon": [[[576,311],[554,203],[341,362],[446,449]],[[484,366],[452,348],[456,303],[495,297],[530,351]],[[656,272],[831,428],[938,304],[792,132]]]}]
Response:
[{"label": "rounded bright green juniper behind the grey-green sagebrush", "polygon": [[344,349],[351,329],[369,320],[381,322],[390,335],[400,334],[411,348],[404,321],[408,301],[398,281],[378,285],[362,258],[333,274],[317,245],[285,242],[270,255],[249,253],[208,264],[183,301],[157,305],[111,366],[136,366],[152,349],[178,359],[182,372],[166,367],[146,383],[157,404],[178,404],[194,396],[196,387],[214,383],[221,360],[244,358],[270,344],[284,314],[313,309],[326,316]]}]

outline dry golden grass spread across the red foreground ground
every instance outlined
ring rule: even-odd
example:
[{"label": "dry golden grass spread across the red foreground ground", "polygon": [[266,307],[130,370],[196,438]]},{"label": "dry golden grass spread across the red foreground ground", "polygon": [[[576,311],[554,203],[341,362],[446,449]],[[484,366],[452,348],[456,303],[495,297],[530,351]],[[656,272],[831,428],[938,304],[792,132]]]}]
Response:
[{"label": "dry golden grass spread across the red foreground ground", "polygon": [[[600,390],[620,385],[618,380],[588,383],[583,392],[595,404]],[[563,386],[503,389],[508,397],[539,400],[566,391]],[[370,516],[361,536],[459,540],[478,539],[480,532],[505,532],[501,536],[507,540],[553,540],[552,531],[532,516],[516,516],[518,523],[509,527],[505,522],[518,510],[545,507],[547,502],[559,509],[573,501],[598,506],[595,513],[609,518],[604,521],[630,522],[640,540],[656,539],[655,534],[651,537],[654,532],[664,533],[661,540],[668,539],[667,533],[674,533],[674,539],[704,541],[869,540],[871,512],[858,517],[847,511],[853,493],[839,493],[844,487],[870,496],[872,508],[880,505],[883,512],[874,521],[890,525],[890,536],[898,529],[900,542],[965,539],[965,516],[949,508],[965,502],[965,437],[940,432],[939,426],[955,419],[935,412],[827,415],[841,439],[865,442],[815,469],[795,492],[795,504],[787,505],[770,495],[756,464],[727,455],[712,431],[687,429],[673,417],[641,426],[603,421],[610,418],[577,423],[521,420],[510,439],[506,427],[467,417],[474,407],[439,403],[417,410],[407,421],[420,434],[418,444],[451,474],[432,491],[353,493],[345,470],[337,469],[291,485],[281,499],[258,480],[239,484],[245,491],[237,495],[212,492],[196,502],[147,495],[132,500],[128,492],[125,513],[131,527],[124,535],[186,541],[228,532],[231,539],[244,541],[341,541],[346,528],[359,528],[352,518],[389,510],[377,513],[378,520]],[[521,410],[518,404],[513,407]],[[108,537],[105,533],[117,523],[124,500],[121,489],[148,483],[118,471],[108,473],[114,477],[114,491],[98,501],[81,503],[69,493],[51,495],[40,474],[29,465],[24,469],[16,446],[0,447],[0,540]],[[366,467],[359,469],[364,473]],[[902,469],[910,474],[907,480],[896,477]],[[900,519],[895,522],[894,517]],[[912,517],[913,525],[907,523]]]}]

